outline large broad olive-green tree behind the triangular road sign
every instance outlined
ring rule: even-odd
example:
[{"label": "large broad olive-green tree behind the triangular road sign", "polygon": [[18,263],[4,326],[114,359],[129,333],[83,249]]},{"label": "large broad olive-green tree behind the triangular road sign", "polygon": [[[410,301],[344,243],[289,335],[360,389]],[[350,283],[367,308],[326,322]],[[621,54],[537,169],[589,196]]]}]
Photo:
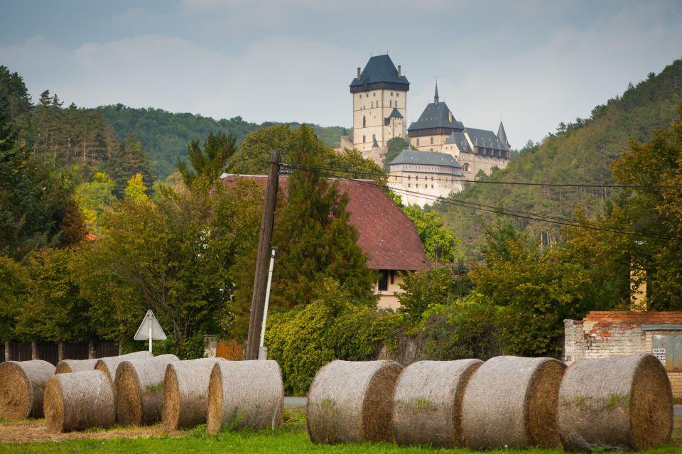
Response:
[{"label": "large broad olive-green tree behind the triangular road sign", "polygon": [[150,308],[178,349],[220,333],[220,320],[230,318],[230,267],[257,231],[252,205],[201,178],[186,195],[129,198],[105,212],[102,238],[82,247],[76,266],[100,334],[130,337]]}]

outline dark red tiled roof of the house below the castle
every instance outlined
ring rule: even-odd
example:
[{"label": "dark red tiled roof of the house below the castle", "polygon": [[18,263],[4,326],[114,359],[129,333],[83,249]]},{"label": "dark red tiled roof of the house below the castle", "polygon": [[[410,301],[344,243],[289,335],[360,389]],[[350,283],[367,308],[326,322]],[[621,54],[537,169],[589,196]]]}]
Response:
[{"label": "dark red tiled roof of the house below the castle", "polygon": [[[265,184],[266,175],[227,175],[223,184],[235,178],[249,178]],[[349,221],[357,227],[357,244],[367,252],[370,269],[417,271],[430,269],[431,263],[419,239],[414,223],[379,186],[372,181],[349,181],[330,178],[348,195]],[[286,197],[288,177],[279,177],[279,188]]]}]

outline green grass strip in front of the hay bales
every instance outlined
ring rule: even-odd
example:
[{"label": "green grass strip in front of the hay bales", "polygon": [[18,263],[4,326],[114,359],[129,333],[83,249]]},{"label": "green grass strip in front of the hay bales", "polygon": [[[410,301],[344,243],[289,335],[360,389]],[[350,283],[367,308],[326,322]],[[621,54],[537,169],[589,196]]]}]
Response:
[{"label": "green grass strip in front of the hay bales", "polygon": [[[0,422],[0,426],[11,424]],[[44,425],[36,421],[35,425]],[[650,454],[673,454],[682,452],[682,418],[676,418],[673,443],[646,451]],[[0,427],[1,428],[1,427]],[[134,436],[136,428],[118,428],[114,437]],[[125,432],[128,433],[125,433]],[[119,435],[124,432],[124,435]],[[287,409],[283,428],[278,431],[236,431],[223,432],[217,436],[205,433],[205,426],[190,431],[179,431],[160,436],[141,434],[135,438],[108,438],[112,431],[91,430],[84,436],[99,438],[67,438],[63,441],[41,441],[31,443],[0,443],[0,453],[470,453],[467,449],[437,449],[429,446],[399,448],[392,443],[313,445],[305,432],[305,415],[299,409]],[[561,448],[511,450],[501,449],[487,453],[562,453]]]}]

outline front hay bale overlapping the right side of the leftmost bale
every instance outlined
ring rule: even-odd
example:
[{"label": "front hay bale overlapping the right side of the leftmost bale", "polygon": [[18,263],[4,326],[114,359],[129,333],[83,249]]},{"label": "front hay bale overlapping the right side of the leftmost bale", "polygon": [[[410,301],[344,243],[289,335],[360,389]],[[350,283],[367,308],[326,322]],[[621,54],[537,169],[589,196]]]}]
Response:
[{"label": "front hay bale overlapping the right side of the leftmost bale", "polygon": [[45,422],[51,432],[105,428],[116,421],[114,390],[101,370],[53,375],[44,400]]}]

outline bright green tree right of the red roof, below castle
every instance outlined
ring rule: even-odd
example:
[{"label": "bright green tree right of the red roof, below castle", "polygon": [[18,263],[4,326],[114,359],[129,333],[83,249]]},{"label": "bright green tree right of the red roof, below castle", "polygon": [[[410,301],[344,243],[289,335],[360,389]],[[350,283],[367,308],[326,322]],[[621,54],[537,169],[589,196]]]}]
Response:
[{"label": "bright green tree right of the red roof, below castle", "polygon": [[443,227],[443,220],[437,212],[422,210],[418,205],[404,207],[403,211],[414,222],[429,260],[436,261],[436,255],[440,263],[454,263],[463,258],[461,242],[451,229]]}]

